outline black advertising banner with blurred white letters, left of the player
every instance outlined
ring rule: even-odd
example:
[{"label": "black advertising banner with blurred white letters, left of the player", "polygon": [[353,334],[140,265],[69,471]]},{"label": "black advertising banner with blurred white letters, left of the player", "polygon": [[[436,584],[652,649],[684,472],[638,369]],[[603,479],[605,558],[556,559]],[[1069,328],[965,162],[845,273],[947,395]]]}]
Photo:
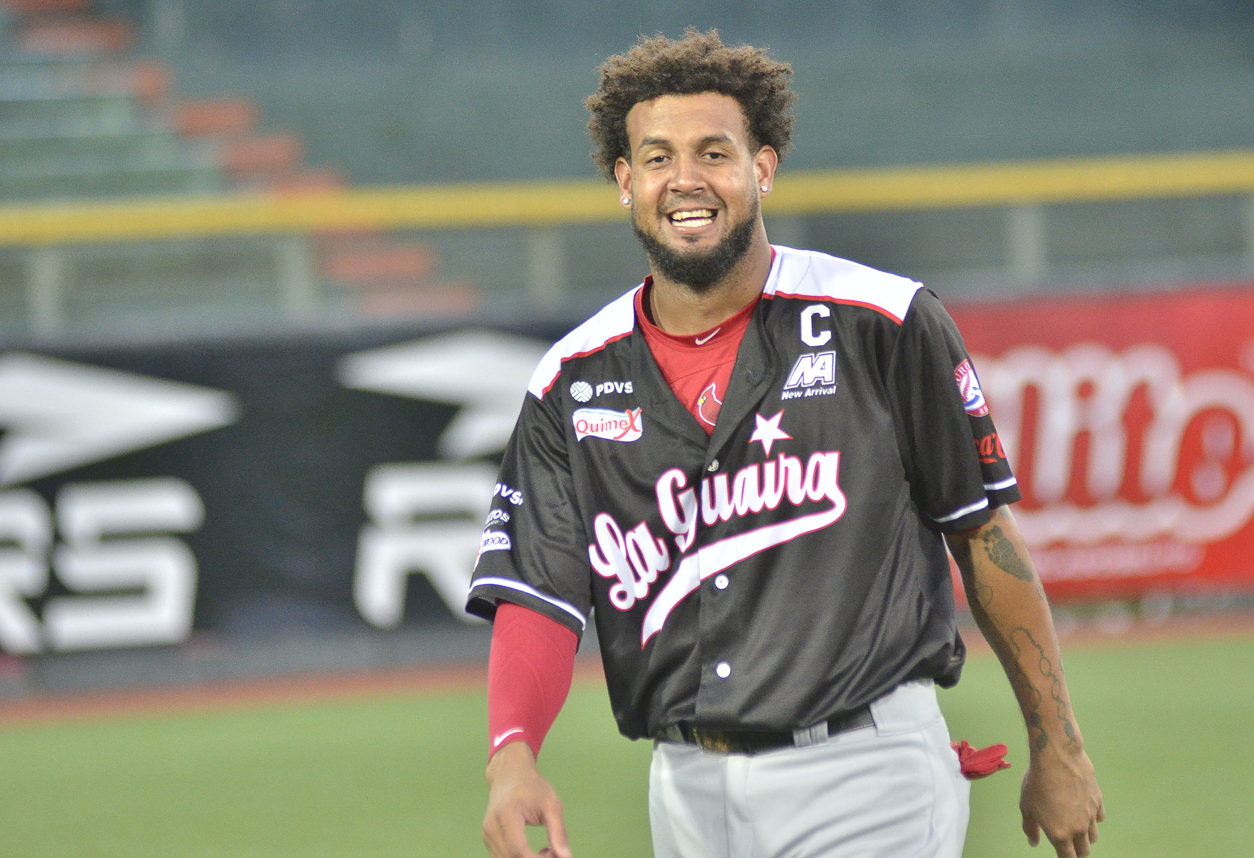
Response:
[{"label": "black advertising banner with blurred white letters, left of the player", "polygon": [[0,352],[0,651],[472,622],[561,332]]}]

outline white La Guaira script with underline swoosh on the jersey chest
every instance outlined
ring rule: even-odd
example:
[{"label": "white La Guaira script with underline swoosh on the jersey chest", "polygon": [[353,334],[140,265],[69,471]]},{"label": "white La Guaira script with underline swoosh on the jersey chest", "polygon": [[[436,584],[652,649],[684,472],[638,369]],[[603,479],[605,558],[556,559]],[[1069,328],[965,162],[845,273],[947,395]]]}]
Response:
[{"label": "white La Guaira script with underline swoosh on the jersey chest", "polygon": [[[775,509],[785,497],[793,506],[806,500],[830,500],[831,507],[739,533],[683,557],[645,613],[641,646],[662,628],[675,606],[705,578],[761,551],[819,531],[840,518],[848,504],[840,490],[839,475],[840,453],[831,452],[814,453],[804,465],[799,458],[781,453],[772,462],[741,468],[731,478],[727,474],[706,477],[701,484],[701,521],[706,526],[726,522],[734,516],[745,517],[762,509]],[[662,523],[675,537],[675,544],[682,556],[696,539],[696,490],[687,487],[683,472],[672,468],[658,478],[656,492]],[[665,542],[653,536],[646,522],[624,534],[608,513],[597,516],[593,533],[597,542],[588,546],[592,568],[604,578],[618,578],[618,583],[609,588],[609,601],[621,611],[631,610],[637,600],[648,596],[650,586],[657,581],[657,576],[670,568],[670,551]]]}]

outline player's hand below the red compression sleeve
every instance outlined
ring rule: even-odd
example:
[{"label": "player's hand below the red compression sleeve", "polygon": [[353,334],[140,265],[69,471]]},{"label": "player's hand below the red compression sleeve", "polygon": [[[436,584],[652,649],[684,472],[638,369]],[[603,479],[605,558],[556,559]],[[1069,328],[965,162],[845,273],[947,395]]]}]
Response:
[{"label": "player's hand below the red compression sleeve", "polygon": [[[492,858],[571,858],[562,802],[535,770],[525,741],[512,741],[488,763],[488,813],[483,842]],[[549,845],[539,857],[527,844],[527,825],[544,825]]]}]

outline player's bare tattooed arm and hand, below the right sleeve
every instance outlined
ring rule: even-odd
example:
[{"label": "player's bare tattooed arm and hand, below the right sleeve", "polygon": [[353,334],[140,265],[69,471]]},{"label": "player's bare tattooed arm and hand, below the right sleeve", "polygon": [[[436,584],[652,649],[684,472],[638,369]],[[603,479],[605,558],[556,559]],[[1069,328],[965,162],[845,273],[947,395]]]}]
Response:
[{"label": "player's bare tattooed arm and hand, below the right sleeve", "polygon": [[1027,725],[1031,763],[1020,810],[1032,845],[1041,832],[1058,858],[1083,858],[1106,818],[1092,763],[1062,679],[1062,660],[1045,588],[1008,507],[974,531],[947,534],[971,613],[1014,689]]}]

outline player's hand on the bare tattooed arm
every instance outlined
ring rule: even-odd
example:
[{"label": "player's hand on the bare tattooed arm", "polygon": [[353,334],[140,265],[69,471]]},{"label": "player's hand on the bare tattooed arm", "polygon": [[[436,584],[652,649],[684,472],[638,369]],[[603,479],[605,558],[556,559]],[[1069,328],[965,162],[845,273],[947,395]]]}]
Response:
[{"label": "player's hand on the bare tattooed arm", "polygon": [[1097,823],[1106,818],[1088,755],[1066,749],[1033,755],[1020,812],[1028,843],[1040,843],[1043,830],[1058,858],[1085,858],[1097,839]]}]

